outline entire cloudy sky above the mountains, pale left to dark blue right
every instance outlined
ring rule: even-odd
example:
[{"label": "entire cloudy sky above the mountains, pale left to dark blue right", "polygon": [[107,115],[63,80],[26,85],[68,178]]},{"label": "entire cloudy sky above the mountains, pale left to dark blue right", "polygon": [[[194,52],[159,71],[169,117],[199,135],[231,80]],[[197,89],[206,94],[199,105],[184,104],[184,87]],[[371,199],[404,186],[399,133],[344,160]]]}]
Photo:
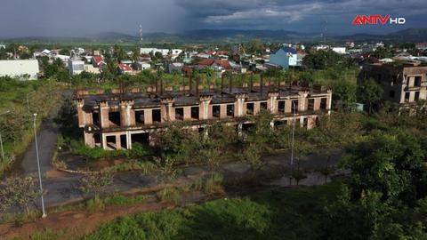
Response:
[{"label": "entire cloudy sky above the mountains, pale left to dark blue right", "polygon": [[[390,14],[403,26],[353,26],[360,14]],[[181,33],[192,29],[283,29],[383,34],[427,28],[427,0],[3,0],[0,37]]]}]

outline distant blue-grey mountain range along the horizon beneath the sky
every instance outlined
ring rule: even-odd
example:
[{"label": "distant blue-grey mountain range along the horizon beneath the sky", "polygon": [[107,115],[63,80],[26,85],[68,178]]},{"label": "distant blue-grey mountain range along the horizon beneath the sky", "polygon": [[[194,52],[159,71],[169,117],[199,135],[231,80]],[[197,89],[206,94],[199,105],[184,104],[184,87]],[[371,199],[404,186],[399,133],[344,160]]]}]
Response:
[{"label": "distant blue-grey mountain range along the horizon beneath the sky", "polygon": [[[143,43],[239,43],[259,38],[264,42],[427,42],[427,28],[408,28],[386,35],[355,34],[350,36],[322,36],[320,33],[298,33],[286,30],[238,30],[238,29],[200,29],[181,34],[148,33]],[[128,43],[140,41],[139,36],[117,32],[104,32],[94,36],[82,37],[20,37],[4,39],[4,42],[22,43]]]}]

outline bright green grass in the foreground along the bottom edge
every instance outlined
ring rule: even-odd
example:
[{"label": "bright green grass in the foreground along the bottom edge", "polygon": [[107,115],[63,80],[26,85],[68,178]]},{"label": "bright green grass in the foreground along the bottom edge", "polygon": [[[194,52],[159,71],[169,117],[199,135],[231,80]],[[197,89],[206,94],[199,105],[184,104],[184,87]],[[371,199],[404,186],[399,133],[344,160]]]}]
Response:
[{"label": "bright green grass in the foreground along the bottom edge", "polygon": [[83,239],[316,239],[323,205],[339,184],[271,190],[206,204],[138,213],[104,224]]}]

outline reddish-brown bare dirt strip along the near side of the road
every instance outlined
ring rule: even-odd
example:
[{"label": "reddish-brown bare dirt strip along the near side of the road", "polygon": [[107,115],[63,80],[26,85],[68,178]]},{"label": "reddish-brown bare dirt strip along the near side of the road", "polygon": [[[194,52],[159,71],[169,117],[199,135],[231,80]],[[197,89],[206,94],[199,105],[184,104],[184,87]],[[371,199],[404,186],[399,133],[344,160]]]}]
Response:
[{"label": "reddish-brown bare dirt strip along the near side of the road", "polygon": [[[190,199],[190,200],[189,200]],[[205,196],[190,193],[181,196],[180,205],[196,204],[205,201]],[[30,239],[30,236],[45,228],[54,232],[61,232],[61,239],[77,239],[96,230],[102,223],[114,220],[128,214],[137,212],[160,211],[173,208],[174,204],[159,203],[155,197],[149,198],[142,204],[126,206],[109,205],[102,212],[90,214],[85,211],[68,211],[49,214],[48,217],[35,222],[24,223],[17,226],[14,223],[0,225],[0,238],[13,239],[20,237]]]}]

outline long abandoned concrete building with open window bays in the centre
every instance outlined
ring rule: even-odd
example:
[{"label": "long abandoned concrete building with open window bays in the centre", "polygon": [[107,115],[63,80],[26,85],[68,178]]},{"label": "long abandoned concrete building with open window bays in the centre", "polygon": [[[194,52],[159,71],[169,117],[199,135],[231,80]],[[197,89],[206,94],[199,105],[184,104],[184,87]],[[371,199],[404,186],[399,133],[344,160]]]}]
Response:
[{"label": "long abandoned concrete building with open window bays in the centre", "polygon": [[318,116],[330,114],[331,109],[332,92],[320,85],[309,89],[308,85],[284,82],[276,86],[251,83],[242,88],[230,84],[227,90],[223,84],[222,89],[197,86],[184,86],[180,91],[171,87],[157,91],[156,86],[149,86],[145,93],[135,88],[108,94],[78,90],[78,124],[84,129],[86,146],[114,150],[131,149],[135,142],[152,144],[156,132],[179,121],[186,121],[199,132],[218,121],[244,132],[251,124],[247,116],[257,115],[261,109],[273,114],[272,127],[293,124],[295,117],[296,124],[310,129]]}]

